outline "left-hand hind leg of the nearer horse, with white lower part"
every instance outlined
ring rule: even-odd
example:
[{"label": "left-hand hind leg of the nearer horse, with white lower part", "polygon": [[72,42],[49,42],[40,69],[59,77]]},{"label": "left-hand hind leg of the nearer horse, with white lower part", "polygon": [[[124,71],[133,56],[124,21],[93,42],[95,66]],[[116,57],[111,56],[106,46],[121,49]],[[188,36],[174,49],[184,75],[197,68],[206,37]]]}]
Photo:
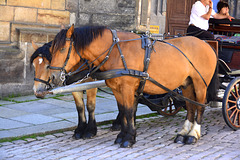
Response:
[{"label": "left-hand hind leg of the nearer horse, with white lower part", "polygon": [[[183,96],[188,97],[189,99],[195,100],[195,94],[193,92],[193,85],[189,85],[187,88],[182,88]],[[194,116],[196,107],[186,101],[187,116],[184,122],[182,130],[177,134],[177,137],[174,139],[175,143],[186,143],[186,138],[189,132],[191,131],[194,123]]]}]

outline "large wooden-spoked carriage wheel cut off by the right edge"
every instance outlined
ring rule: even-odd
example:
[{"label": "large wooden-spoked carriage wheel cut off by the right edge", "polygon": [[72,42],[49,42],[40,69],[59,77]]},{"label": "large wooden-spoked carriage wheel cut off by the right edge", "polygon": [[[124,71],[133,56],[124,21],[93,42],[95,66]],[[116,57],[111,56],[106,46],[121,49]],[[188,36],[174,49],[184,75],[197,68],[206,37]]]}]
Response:
[{"label": "large wooden-spoked carriage wheel cut off by the right edge", "polygon": [[230,128],[240,129],[240,77],[234,78],[225,90],[222,112]]}]

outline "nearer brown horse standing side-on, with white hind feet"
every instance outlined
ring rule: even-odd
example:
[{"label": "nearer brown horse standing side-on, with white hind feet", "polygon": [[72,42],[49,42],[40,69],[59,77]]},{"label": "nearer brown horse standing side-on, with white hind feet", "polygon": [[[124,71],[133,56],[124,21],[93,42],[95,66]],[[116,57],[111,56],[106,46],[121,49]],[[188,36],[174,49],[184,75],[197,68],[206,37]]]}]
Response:
[{"label": "nearer brown horse standing side-on, with white hind feet", "polygon": [[[62,67],[65,63],[65,70],[69,72],[80,59],[87,59],[95,66],[99,66],[102,72],[119,69],[134,71],[132,74],[129,72],[106,80],[122,115],[121,131],[115,143],[119,143],[121,147],[131,147],[136,142],[135,94],[141,80],[140,74],[138,76],[134,74],[140,73],[139,71],[145,68],[145,50],[141,47],[142,38],[139,35],[117,32],[116,37],[113,33],[112,30],[102,26],[74,29],[72,25],[68,30],[62,30],[55,37],[50,49],[53,58],[51,67]],[[170,90],[181,87],[183,96],[198,102],[197,105],[186,101],[186,121],[175,138],[177,143],[193,144],[201,136],[204,107],[199,104],[205,104],[209,84],[211,80],[216,80],[217,56],[206,42],[195,37],[169,39],[166,43],[157,41],[151,47],[153,52],[146,71],[146,75],[149,76],[146,79],[150,77]],[[61,83],[59,71],[51,70],[51,75],[54,83]],[[143,92],[154,95],[167,91],[147,80]]]}]

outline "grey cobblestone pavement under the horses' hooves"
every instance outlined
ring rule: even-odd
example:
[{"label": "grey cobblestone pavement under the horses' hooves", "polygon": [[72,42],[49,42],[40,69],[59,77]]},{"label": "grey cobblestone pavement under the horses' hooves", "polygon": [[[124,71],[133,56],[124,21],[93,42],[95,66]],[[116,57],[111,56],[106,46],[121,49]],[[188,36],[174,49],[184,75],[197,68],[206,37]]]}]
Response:
[{"label": "grey cobblestone pavement under the horses' hooves", "polygon": [[104,125],[98,127],[96,137],[87,140],[74,140],[73,131],[66,131],[26,141],[0,143],[0,159],[240,159],[240,130],[233,131],[225,124],[221,108],[206,109],[202,137],[197,144],[173,143],[185,114],[186,112],[181,112],[174,117],[138,119],[137,142],[132,148],[120,148],[113,144],[118,131],[112,132],[109,125]]}]

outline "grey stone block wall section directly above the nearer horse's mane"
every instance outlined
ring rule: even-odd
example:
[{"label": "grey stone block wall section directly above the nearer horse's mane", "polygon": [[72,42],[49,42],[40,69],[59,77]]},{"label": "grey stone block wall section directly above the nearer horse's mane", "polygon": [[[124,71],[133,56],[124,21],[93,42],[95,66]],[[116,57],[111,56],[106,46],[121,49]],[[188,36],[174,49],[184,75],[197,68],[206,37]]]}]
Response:
[{"label": "grey stone block wall section directly above the nearer horse's mane", "polygon": [[135,16],[135,0],[80,0],[77,24],[130,31],[136,27]]}]

